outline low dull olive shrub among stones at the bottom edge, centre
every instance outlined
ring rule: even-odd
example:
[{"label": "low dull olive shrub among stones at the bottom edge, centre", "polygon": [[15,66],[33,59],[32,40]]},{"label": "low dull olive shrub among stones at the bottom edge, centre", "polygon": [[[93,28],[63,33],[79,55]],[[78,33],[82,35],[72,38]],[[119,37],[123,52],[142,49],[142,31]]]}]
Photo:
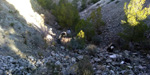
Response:
[{"label": "low dull olive shrub among stones at the bottom edge, centre", "polygon": [[69,69],[67,69],[66,75],[94,75],[89,57],[84,56],[82,60],[70,66]]}]

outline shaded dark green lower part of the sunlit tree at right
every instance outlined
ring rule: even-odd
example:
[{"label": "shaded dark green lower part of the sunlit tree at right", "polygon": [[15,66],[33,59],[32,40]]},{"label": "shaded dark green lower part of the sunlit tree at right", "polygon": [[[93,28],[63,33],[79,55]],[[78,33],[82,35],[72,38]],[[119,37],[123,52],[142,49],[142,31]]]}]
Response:
[{"label": "shaded dark green lower part of the sunlit tree at right", "polygon": [[149,30],[149,27],[143,22],[140,22],[136,26],[131,26],[126,23],[123,24],[123,28],[124,31],[119,33],[119,35],[126,41],[130,42],[140,42],[146,40],[146,36],[144,34],[147,30]]}]

